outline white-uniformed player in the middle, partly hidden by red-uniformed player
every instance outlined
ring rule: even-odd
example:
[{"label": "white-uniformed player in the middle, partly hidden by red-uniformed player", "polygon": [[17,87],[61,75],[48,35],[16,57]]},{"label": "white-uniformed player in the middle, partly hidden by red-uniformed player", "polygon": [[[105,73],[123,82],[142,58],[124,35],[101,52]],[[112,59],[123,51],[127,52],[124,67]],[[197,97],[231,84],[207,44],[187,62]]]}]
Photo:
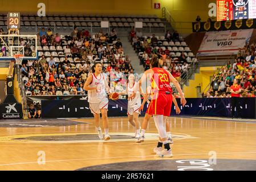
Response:
[{"label": "white-uniformed player in the middle, partly hidden by red-uniformed player", "polygon": [[[120,92],[119,94],[128,94],[128,96],[131,96],[134,88],[136,87],[136,84],[137,83],[135,82],[135,76],[133,74],[130,74],[128,77],[127,89],[123,92]],[[136,129],[135,138],[140,138],[140,123],[138,119],[140,115],[139,108],[141,106],[141,97],[140,92],[135,93],[137,93],[135,98],[132,101],[128,101],[127,115],[129,122]]]}]

